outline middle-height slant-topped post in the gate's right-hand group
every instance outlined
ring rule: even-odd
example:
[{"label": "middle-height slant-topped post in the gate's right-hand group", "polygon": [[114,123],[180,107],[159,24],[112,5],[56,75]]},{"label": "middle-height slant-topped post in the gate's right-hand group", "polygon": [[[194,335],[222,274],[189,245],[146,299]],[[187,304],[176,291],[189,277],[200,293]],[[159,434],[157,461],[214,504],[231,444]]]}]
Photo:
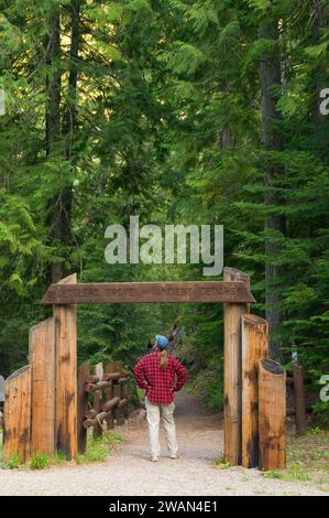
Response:
[{"label": "middle-height slant-topped post in the gate's right-hand group", "polygon": [[260,316],[242,316],[242,466],[259,464],[259,361],[268,354],[268,326]]}]

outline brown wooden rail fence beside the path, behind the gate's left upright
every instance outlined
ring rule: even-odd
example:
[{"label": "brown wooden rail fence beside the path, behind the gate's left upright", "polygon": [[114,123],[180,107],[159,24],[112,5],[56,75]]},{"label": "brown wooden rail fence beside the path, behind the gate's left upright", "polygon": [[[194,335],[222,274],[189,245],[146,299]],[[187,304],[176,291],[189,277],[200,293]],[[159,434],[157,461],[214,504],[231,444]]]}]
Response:
[{"label": "brown wooden rail fence beside the path, behind the gate's left upright", "polygon": [[103,430],[123,424],[128,418],[128,374],[122,370],[122,361],[106,365],[97,364],[94,374],[89,363],[79,368],[78,377],[78,451],[85,453],[87,430],[92,427],[94,438]]}]

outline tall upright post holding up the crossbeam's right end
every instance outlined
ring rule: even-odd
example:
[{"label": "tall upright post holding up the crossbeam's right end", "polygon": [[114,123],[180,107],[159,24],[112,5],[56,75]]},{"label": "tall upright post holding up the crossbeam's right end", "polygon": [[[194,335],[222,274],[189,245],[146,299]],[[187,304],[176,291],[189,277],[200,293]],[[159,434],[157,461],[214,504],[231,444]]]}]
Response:
[{"label": "tall upright post holding up the crossbeam's right end", "polygon": [[[224,268],[223,278],[249,289],[249,277],[240,270]],[[241,317],[248,311],[245,303],[224,303],[224,458],[232,466],[242,461]]]}]

